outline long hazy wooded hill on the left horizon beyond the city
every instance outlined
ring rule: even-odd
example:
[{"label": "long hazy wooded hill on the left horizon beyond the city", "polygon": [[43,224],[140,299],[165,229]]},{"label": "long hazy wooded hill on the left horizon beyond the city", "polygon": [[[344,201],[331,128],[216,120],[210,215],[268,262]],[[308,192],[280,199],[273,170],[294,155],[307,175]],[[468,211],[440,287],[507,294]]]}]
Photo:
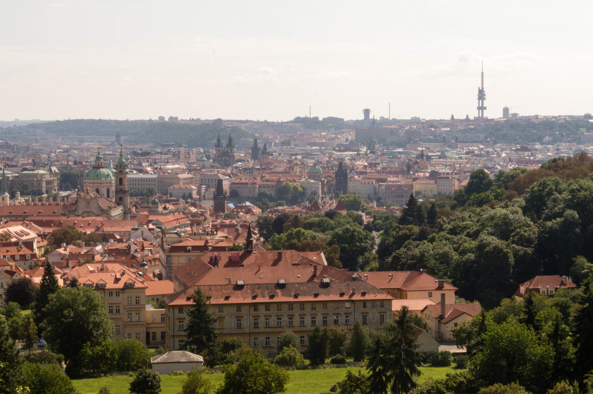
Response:
[{"label": "long hazy wooded hill on the left horizon beyond the city", "polygon": [[[152,123],[145,120],[75,119],[34,123],[21,127],[43,129],[46,133],[60,136],[113,136],[115,138],[116,132],[120,132],[121,136],[131,143],[174,142],[203,148],[212,148],[219,133],[225,142],[229,132],[232,133],[235,141],[254,137],[253,134],[239,127],[216,127],[211,123]],[[11,130],[11,132],[15,131],[17,130]]]}]

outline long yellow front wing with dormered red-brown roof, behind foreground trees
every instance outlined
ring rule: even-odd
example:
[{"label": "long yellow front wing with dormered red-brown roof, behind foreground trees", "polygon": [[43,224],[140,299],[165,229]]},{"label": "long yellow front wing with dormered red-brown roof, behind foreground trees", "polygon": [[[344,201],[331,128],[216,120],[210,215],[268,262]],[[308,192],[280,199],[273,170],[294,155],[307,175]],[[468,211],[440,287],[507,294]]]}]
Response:
[{"label": "long yellow front wing with dormered red-brown roof, behind foreground trees", "polygon": [[[195,289],[165,297],[166,344],[171,349],[178,349],[187,339],[187,311],[193,306]],[[381,328],[393,319],[393,297],[356,275],[345,281],[326,277],[305,283],[245,284],[238,280],[202,286],[202,290],[217,316],[222,337],[240,337],[269,354],[275,352],[278,337],[286,330],[299,337],[304,351],[307,335],[315,326],[351,329],[358,321],[368,328]]]}]

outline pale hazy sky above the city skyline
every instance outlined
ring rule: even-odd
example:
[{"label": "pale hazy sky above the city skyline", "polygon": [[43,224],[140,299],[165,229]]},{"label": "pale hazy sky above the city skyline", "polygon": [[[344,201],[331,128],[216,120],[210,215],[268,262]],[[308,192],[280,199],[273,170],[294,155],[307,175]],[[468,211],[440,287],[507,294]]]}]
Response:
[{"label": "pale hazy sky above the city skyline", "polygon": [[0,2],[0,120],[593,111],[591,1]]}]

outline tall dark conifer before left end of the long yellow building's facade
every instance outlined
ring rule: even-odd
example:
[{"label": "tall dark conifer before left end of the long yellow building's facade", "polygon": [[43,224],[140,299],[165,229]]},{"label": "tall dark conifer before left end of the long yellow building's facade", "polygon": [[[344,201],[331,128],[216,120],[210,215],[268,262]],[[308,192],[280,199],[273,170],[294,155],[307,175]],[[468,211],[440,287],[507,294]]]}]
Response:
[{"label": "tall dark conifer before left end of the long yellow building's facade", "polygon": [[218,338],[218,331],[215,328],[216,314],[210,311],[206,294],[199,286],[196,286],[192,294],[192,302],[195,306],[187,310],[187,341],[183,345],[183,350],[208,354]]}]

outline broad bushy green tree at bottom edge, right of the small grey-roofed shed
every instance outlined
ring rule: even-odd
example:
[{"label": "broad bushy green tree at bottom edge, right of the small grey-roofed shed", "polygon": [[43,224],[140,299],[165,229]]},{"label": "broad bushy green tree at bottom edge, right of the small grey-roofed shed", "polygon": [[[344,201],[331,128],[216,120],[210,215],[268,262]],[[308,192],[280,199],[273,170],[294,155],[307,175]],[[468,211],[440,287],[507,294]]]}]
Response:
[{"label": "broad bushy green tree at bottom edge, right of the small grey-roofed shed", "polygon": [[238,363],[225,369],[219,394],[274,394],[285,391],[288,373],[261,354],[244,350]]}]

